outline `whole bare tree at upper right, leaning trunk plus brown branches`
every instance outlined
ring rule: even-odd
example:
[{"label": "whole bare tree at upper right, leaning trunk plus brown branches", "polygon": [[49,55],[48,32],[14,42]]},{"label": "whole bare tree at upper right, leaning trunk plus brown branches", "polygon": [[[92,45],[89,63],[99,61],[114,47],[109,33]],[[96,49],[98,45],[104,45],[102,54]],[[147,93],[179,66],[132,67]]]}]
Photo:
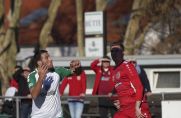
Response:
[{"label": "whole bare tree at upper right, leaning trunk plus brown branches", "polygon": [[171,50],[179,53],[178,49],[169,46],[179,42],[179,3],[179,0],[134,0],[125,34],[125,53],[170,54]]}]

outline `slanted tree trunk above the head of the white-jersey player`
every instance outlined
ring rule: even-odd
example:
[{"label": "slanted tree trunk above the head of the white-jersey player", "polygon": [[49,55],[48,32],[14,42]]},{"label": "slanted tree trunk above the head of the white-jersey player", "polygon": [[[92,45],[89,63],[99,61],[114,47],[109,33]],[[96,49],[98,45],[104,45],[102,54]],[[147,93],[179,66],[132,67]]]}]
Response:
[{"label": "slanted tree trunk above the head of the white-jersey player", "polygon": [[52,0],[48,9],[48,19],[45,22],[39,38],[40,48],[46,48],[48,43],[51,41],[51,30],[53,27],[54,20],[57,15],[58,7],[61,4],[61,0]]}]

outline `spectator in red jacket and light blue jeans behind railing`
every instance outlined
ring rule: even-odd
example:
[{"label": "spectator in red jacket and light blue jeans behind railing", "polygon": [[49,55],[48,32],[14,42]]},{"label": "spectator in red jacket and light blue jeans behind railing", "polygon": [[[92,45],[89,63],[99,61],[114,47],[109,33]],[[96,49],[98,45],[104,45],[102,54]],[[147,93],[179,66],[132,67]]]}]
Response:
[{"label": "spectator in red jacket and light blue jeans behind railing", "polygon": [[[72,66],[74,61],[70,63]],[[80,61],[78,61],[80,64]],[[60,95],[63,95],[64,89],[67,85],[69,85],[69,96],[68,106],[70,110],[71,118],[81,118],[83,108],[84,108],[84,96],[86,92],[86,75],[82,70],[81,66],[78,69],[79,72],[73,73],[70,77],[65,77],[60,85]]]}]

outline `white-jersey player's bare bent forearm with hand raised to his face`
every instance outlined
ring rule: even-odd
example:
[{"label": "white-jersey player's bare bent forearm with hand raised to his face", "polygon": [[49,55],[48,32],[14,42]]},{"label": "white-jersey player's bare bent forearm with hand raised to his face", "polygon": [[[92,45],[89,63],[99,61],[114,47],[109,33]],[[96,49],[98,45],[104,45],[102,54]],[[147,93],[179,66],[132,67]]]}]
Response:
[{"label": "white-jersey player's bare bent forearm with hand raised to his face", "polygon": [[29,87],[30,87],[30,94],[31,94],[33,99],[36,99],[40,95],[40,92],[41,92],[41,89],[42,89],[43,80],[45,79],[47,71],[48,71],[48,67],[46,65],[41,65],[38,68],[38,75],[39,75],[39,77],[38,77],[37,82],[35,83],[34,86],[29,85]]}]

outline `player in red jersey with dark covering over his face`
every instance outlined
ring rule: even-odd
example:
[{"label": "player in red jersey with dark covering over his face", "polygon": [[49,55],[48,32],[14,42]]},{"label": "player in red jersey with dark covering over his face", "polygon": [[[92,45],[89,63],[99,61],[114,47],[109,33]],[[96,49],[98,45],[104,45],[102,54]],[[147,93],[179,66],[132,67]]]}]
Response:
[{"label": "player in red jersey with dark covering over his face", "polygon": [[145,118],[140,109],[143,86],[134,65],[124,60],[123,52],[122,43],[111,45],[111,56],[116,64],[113,80],[120,104],[114,118]]}]

